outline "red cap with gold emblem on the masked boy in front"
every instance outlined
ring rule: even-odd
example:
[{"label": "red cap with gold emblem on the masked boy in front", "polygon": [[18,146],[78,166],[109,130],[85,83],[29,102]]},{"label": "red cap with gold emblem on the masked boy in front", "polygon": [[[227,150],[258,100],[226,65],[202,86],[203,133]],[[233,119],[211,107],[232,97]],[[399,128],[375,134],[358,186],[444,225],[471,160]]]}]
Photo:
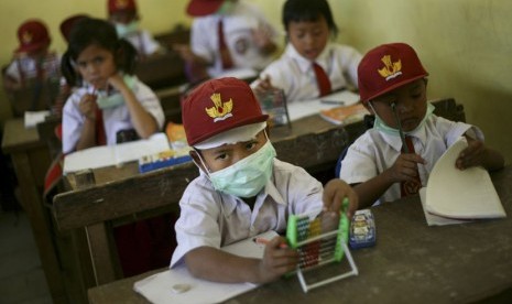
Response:
[{"label": "red cap with gold emblem on the masked boy in front", "polygon": [[238,127],[264,122],[268,118],[249,85],[232,77],[203,83],[187,96],[182,109],[190,146]]}]

